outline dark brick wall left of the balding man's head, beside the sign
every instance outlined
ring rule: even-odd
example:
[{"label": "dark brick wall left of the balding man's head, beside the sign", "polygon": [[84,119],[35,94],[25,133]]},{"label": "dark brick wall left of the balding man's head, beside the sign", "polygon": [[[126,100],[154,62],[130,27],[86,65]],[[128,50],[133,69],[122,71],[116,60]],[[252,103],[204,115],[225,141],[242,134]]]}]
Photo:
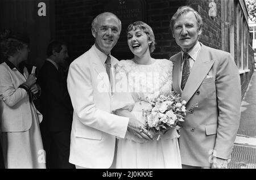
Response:
[{"label": "dark brick wall left of the balding man's head, beside the sign", "polygon": [[86,52],[94,39],[91,23],[103,11],[100,1],[56,0],[56,38],[68,41],[71,61]]}]

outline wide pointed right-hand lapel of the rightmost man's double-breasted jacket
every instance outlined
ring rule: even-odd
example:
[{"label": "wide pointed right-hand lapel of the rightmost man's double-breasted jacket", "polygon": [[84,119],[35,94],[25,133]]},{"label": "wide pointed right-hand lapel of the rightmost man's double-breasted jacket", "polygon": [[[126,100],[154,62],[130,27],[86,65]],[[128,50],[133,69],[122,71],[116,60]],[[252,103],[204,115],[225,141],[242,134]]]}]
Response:
[{"label": "wide pointed right-hand lapel of the rightmost man's double-breasted jacket", "polygon": [[213,63],[215,62],[214,59],[209,57],[207,48],[203,44],[201,45],[201,50],[197,55],[196,62],[191,69],[187,83],[185,84],[181,94],[181,98],[187,102],[199,88],[205,76],[208,74],[210,68],[212,68]]}]

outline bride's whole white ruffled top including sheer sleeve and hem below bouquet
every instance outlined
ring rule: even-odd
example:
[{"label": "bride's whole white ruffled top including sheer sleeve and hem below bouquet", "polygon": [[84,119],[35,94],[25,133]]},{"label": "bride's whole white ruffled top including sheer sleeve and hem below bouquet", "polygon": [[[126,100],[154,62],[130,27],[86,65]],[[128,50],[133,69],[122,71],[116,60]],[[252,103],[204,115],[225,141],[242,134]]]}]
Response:
[{"label": "bride's whole white ruffled top including sheer sleeve and hem below bouquet", "polygon": [[[141,122],[145,122],[143,109],[151,108],[147,98],[166,95],[172,89],[172,62],[156,59],[151,65],[138,65],[132,60],[122,60],[115,67],[115,89],[112,110],[128,109]],[[161,139],[177,138],[176,130],[169,130]],[[144,143],[143,140],[126,132],[125,139]]]}]

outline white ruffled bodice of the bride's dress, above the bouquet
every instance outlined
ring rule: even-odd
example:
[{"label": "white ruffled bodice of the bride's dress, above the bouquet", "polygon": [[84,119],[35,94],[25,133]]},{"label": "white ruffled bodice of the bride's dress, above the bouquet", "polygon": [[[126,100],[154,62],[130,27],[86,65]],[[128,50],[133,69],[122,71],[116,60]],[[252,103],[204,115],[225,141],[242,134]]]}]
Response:
[{"label": "white ruffled bodice of the bride's dress, above the bouquet", "polygon": [[167,59],[155,59],[151,65],[139,65],[133,60],[122,60],[115,65],[115,75],[127,78],[127,92],[134,101],[154,98],[171,91],[173,64]]}]

